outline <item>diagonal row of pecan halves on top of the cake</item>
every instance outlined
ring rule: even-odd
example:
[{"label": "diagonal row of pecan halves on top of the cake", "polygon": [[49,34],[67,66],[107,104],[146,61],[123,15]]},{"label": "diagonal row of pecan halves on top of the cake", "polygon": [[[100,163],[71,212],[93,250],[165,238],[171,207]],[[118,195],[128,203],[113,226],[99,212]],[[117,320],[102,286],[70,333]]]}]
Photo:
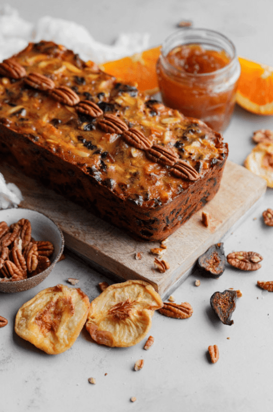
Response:
[{"label": "diagonal row of pecan halves on top of the cake", "polygon": [[170,148],[161,145],[152,145],[152,142],[138,129],[128,128],[127,124],[118,116],[113,114],[104,114],[98,104],[89,100],[80,101],[79,96],[67,86],[55,88],[52,79],[40,73],[29,73],[14,59],[6,59],[0,63],[0,74],[13,78],[24,78],[24,82],[29,86],[47,91],[55,100],[74,106],[82,114],[92,117],[100,117],[97,126],[107,133],[121,134],[123,139],[133,147],[145,150],[149,159],[170,167],[170,172],[178,178],[185,180],[197,180],[199,173],[186,161],[180,160],[178,155]]}]

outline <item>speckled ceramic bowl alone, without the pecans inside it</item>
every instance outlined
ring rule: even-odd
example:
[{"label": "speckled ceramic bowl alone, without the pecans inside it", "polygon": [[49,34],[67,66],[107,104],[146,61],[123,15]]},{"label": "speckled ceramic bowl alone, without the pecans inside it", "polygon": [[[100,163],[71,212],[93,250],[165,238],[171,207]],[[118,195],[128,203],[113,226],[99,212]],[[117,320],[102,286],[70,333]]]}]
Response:
[{"label": "speckled ceramic bowl alone, without the pecans inside it", "polygon": [[31,235],[33,239],[50,241],[53,244],[54,253],[50,257],[51,265],[46,270],[43,270],[43,272],[27,279],[11,282],[0,282],[0,292],[21,292],[39,285],[39,283],[46,279],[46,277],[50,274],[63,251],[64,239],[61,230],[53,220],[45,216],[43,213],[20,207],[0,210],[0,222],[5,221],[8,225],[16,223],[22,218],[30,221],[32,228]]}]

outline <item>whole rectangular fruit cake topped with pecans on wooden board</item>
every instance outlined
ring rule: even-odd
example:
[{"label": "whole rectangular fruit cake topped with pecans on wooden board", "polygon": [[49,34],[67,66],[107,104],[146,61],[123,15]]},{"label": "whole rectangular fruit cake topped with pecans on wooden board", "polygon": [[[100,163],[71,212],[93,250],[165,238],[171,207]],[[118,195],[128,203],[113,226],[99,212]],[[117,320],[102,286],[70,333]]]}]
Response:
[{"label": "whole rectangular fruit cake topped with pecans on wooden board", "polygon": [[203,122],[42,41],[0,63],[0,154],[131,236],[154,241],[215,196],[228,149]]}]

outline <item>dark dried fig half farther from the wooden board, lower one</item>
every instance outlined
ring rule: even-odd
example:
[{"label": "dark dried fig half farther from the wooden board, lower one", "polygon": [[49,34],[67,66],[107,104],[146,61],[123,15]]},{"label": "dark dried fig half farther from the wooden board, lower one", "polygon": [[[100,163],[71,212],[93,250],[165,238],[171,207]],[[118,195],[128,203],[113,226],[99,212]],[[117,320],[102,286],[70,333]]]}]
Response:
[{"label": "dark dried fig half farther from the wooden board, lower one", "polygon": [[224,325],[232,325],[232,313],[236,308],[237,292],[235,290],[224,290],[215,292],[211,297],[211,307],[218,315]]}]

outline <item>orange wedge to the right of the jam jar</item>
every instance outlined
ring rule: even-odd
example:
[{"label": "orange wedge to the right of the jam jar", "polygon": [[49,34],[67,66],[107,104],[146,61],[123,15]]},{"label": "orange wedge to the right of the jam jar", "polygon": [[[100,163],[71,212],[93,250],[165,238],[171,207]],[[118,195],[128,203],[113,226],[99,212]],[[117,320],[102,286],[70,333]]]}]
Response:
[{"label": "orange wedge to the right of the jam jar", "polygon": [[241,75],[236,102],[256,114],[273,114],[273,67],[239,57]]}]

